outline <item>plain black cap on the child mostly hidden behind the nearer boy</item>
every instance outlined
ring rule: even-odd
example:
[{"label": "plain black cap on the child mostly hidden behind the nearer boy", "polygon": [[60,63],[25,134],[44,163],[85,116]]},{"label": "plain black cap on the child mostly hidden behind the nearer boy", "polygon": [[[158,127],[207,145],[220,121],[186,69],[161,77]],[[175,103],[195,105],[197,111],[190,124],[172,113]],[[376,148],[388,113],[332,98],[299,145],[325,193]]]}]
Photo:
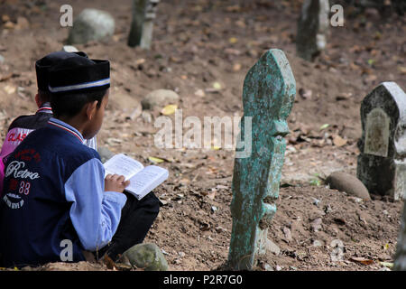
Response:
[{"label": "plain black cap on the child mostly hidden behind the nearer boy", "polygon": [[41,60],[35,62],[35,71],[37,72],[37,85],[38,89],[42,91],[49,91],[49,70],[59,61],[66,60],[71,57],[83,57],[88,58],[85,52],[67,52],[67,51],[55,51],[42,57]]}]

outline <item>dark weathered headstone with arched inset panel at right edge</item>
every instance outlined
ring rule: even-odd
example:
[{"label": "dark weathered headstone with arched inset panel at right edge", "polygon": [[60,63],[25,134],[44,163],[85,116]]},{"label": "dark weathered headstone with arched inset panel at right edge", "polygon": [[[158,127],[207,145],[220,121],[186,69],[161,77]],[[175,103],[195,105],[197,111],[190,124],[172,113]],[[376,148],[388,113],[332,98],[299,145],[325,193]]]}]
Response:
[{"label": "dark weathered headstone with arched inset panel at right edge", "polygon": [[361,104],[363,135],[356,174],[370,193],[400,200],[406,193],[406,94],[383,82]]}]

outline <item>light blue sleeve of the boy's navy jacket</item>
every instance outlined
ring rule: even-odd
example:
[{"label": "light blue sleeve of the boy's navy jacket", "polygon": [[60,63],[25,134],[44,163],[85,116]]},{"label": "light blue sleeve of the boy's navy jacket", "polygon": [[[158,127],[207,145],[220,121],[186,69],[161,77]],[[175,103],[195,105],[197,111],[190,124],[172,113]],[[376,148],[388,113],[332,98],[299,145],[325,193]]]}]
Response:
[{"label": "light blue sleeve of the boy's navy jacket", "polygon": [[65,183],[65,197],[72,202],[69,215],[83,247],[95,251],[106,246],[127,198],[121,192],[105,191],[105,169],[97,158],[72,173]]}]

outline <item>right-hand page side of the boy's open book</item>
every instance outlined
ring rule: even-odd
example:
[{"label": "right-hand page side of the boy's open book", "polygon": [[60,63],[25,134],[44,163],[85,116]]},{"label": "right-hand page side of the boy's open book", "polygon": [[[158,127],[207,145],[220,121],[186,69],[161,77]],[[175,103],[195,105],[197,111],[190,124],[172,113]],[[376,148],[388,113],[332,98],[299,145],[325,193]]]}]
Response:
[{"label": "right-hand page side of the boy's open book", "polygon": [[147,166],[130,179],[130,185],[125,188],[125,191],[132,192],[138,200],[141,200],[148,192],[168,179],[168,176],[167,169],[156,165]]}]

